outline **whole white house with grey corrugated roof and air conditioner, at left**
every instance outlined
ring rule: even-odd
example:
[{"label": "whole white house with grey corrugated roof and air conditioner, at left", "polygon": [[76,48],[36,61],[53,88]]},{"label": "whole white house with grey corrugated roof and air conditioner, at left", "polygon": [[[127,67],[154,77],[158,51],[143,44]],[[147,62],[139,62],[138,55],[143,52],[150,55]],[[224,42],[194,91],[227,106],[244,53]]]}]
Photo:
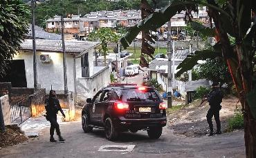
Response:
[{"label": "whole white house with grey corrugated roof and air conditioner, at left", "polygon": [[[78,101],[92,97],[100,88],[109,85],[109,67],[94,66],[94,48],[98,42],[65,41],[66,75],[68,91],[77,95]],[[46,92],[51,89],[64,90],[64,70],[62,41],[36,40],[37,48],[37,82]],[[21,43],[21,51],[15,55],[14,63],[19,62],[20,81],[27,88],[34,87],[33,79],[33,45],[31,39]]]}]

